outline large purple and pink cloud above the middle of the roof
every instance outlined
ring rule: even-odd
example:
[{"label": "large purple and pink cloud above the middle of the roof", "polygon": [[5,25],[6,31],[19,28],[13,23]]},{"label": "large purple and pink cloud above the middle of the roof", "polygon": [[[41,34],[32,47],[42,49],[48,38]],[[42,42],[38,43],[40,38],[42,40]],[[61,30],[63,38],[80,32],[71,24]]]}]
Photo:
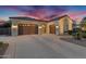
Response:
[{"label": "large purple and pink cloud above the middle of the roof", "polygon": [[34,5],[34,7],[17,7],[19,10],[26,16],[34,16],[40,20],[50,20],[66,11],[62,7],[49,7],[49,5]]}]

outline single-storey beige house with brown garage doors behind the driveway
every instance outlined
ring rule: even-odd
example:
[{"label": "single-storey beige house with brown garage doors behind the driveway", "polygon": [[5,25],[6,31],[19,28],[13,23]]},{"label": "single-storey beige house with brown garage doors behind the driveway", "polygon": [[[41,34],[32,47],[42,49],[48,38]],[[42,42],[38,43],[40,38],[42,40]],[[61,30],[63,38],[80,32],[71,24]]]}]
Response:
[{"label": "single-storey beige house with brown garage doors behind the driveway", "polygon": [[67,15],[56,17],[51,21],[40,21],[30,17],[10,17],[10,22],[12,23],[12,36],[35,34],[64,35],[73,29],[73,22]]}]

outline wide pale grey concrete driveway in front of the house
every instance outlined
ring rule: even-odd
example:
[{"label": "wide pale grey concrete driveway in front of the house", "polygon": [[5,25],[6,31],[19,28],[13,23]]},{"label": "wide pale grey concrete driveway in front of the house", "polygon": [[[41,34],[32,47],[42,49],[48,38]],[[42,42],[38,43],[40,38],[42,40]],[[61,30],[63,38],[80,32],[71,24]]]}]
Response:
[{"label": "wide pale grey concrete driveway in front of the house", "polygon": [[75,59],[86,57],[86,48],[59,39],[56,35],[0,37],[10,47],[4,55],[15,59]]}]

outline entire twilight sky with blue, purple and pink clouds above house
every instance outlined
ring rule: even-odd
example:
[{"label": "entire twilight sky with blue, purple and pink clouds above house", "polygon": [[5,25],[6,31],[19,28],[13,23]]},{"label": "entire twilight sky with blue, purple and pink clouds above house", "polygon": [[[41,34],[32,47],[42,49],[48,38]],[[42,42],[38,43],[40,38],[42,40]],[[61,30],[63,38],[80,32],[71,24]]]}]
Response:
[{"label": "entire twilight sky with blue, purple and pink clouds above house", "polygon": [[86,5],[0,5],[0,20],[11,16],[28,16],[51,20],[67,14],[73,20],[86,16]]}]

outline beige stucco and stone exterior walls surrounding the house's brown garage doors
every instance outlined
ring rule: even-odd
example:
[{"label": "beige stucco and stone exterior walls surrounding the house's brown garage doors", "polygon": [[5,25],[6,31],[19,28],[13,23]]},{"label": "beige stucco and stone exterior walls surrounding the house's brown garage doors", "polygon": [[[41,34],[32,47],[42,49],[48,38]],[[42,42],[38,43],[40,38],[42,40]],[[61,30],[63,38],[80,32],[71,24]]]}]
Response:
[{"label": "beige stucco and stone exterior walls surrounding the house's brown garage doors", "polygon": [[[69,22],[69,26],[67,26],[69,30],[72,30],[73,29],[73,22],[67,16],[61,17],[57,22],[52,21],[50,23],[37,22],[37,21],[23,21],[23,20],[13,20],[13,18],[11,18],[11,22],[12,22],[12,27],[11,27],[12,28],[12,36],[17,36],[19,35],[19,24],[20,23],[38,25],[38,34],[39,35],[41,35],[41,34],[50,34],[49,26],[54,24],[54,26],[56,26],[56,35],[63,35],[64,34],[64,22],[65,22],[64,20],[65,18]],[[45,26],[42,26],[42,25],[45,25]]]}]

